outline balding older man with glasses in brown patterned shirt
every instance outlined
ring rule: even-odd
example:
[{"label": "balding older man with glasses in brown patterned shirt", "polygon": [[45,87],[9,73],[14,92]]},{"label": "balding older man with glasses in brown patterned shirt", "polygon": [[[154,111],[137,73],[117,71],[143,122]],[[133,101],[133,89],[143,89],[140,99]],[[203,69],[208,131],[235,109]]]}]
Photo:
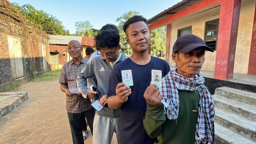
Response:
[{"label": "balding older man with glasses in brown patterned shirt", "polygon": [[[66,109],[74,144],[83,144],[83,136],[87,137],[85,117],[93,133],[93,119],[95,111],[90,105],[90,100],[83,98],[82,94],[70,91],[77,88],[77,73],[86,66],[88,59],[82,57],[81,44],[76,40],[68,43],[68,53],[72,60],[67,62],[60,75],[60,89],[66,94]],[[83,131],[83,132],[82,132]]]}]

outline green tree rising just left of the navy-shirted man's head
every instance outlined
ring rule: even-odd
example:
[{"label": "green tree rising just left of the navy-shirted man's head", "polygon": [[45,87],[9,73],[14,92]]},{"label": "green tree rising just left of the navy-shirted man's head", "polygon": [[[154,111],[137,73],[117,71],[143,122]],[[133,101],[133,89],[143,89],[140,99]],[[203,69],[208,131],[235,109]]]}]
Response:
[{"label": "green tree rising just left of the navy-shirted man's head", "polygon": [[[122,45],[127,45],[126,40],[125,40],[126,35],[124,33],[124,30],[123,30],[122,26],[124,25],[125,21],[127,21],[132,16],[138,15],[138,14],[139,14],[139,12],[136,12],[136,11],[128,11],[128,12],[125,12],[124,14],[122,14],[122,16],[120,16],[116,19],[116,21],[119,22],[117,28],[118,28],[118,31],[119,31],[119,34],[120,34],[120,43]],[[122,52],[128,54],[127,53],[127,47],[122,47],[121,50],[122,50]],[[129,54],[131,54],[131,53],[132,53],[132,50],[131,50],[131,48],[129,48]]]}]

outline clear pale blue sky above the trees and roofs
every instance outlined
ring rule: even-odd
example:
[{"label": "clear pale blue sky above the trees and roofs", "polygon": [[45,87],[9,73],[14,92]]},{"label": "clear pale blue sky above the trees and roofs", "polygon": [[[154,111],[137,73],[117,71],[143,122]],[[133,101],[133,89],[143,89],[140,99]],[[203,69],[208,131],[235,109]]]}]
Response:
[{"label": "clear pale blue sky above the trees and roofs", "polygon": [[116,19],[125,12],[137,11],[150,19],[181,0],[9,0],[20,6],[30,4],[62,21],[65,29],[76,32],[75,22],[89,21],[93,28],[118,25]]}]

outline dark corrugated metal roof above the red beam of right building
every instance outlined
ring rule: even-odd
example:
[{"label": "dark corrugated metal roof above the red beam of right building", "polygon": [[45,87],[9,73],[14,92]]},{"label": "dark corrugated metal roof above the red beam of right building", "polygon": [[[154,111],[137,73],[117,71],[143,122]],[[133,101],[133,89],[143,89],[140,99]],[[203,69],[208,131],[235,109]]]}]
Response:
[{"label": "dark corrugated metal roof above the red beam of right building", "polygon": [[202,0],[182,0],[181,2],[175,4],[174,6],[160,12],[159,14],[155,15],[154,17],[150,18],[148,20],[149,25],[153,24],[161,19],[164,19],[166,17],[169,17],[170,15],[175,14],[176,12],[179,12],[187,7],[192,6],[193,4],[196,4]]}]

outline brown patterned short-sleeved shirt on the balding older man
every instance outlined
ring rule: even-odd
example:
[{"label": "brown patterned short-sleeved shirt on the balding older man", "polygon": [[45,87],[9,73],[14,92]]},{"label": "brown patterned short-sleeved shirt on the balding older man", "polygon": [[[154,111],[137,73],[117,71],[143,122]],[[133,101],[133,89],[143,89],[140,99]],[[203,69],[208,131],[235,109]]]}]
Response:
[{"label": "brown patterned short-sleeved shirt on the balding older man", "polygon": [[[60,74],[60,84],[65,84],[68,88],[77,88],[77,73],[81,72],[86,66],[88,58],[82,58],[79,65],[76,65],[73,60],[63,65]],[[74,95],[72,97],[66,96],[66,109],[70,113],[81,113],[92,108],[91,101],[88,98]]]}]

